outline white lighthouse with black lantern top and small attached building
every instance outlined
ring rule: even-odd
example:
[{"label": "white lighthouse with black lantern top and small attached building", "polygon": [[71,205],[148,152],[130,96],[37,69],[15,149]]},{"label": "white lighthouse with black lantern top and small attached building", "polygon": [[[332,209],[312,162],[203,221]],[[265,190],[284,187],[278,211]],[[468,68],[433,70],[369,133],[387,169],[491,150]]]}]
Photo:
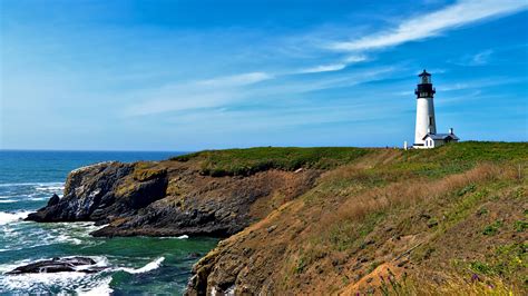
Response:
[{"label": "white lighthouse with black lantern top and small attached building", "polygon": [[418,76],[417,95],[417,124],[414,129],[413,148],[434,148],[449,141],[458,141],[453,129],[449,134],[437,134],[437,119],[434,117],[434,93],[431,75],[426,70]]}]

